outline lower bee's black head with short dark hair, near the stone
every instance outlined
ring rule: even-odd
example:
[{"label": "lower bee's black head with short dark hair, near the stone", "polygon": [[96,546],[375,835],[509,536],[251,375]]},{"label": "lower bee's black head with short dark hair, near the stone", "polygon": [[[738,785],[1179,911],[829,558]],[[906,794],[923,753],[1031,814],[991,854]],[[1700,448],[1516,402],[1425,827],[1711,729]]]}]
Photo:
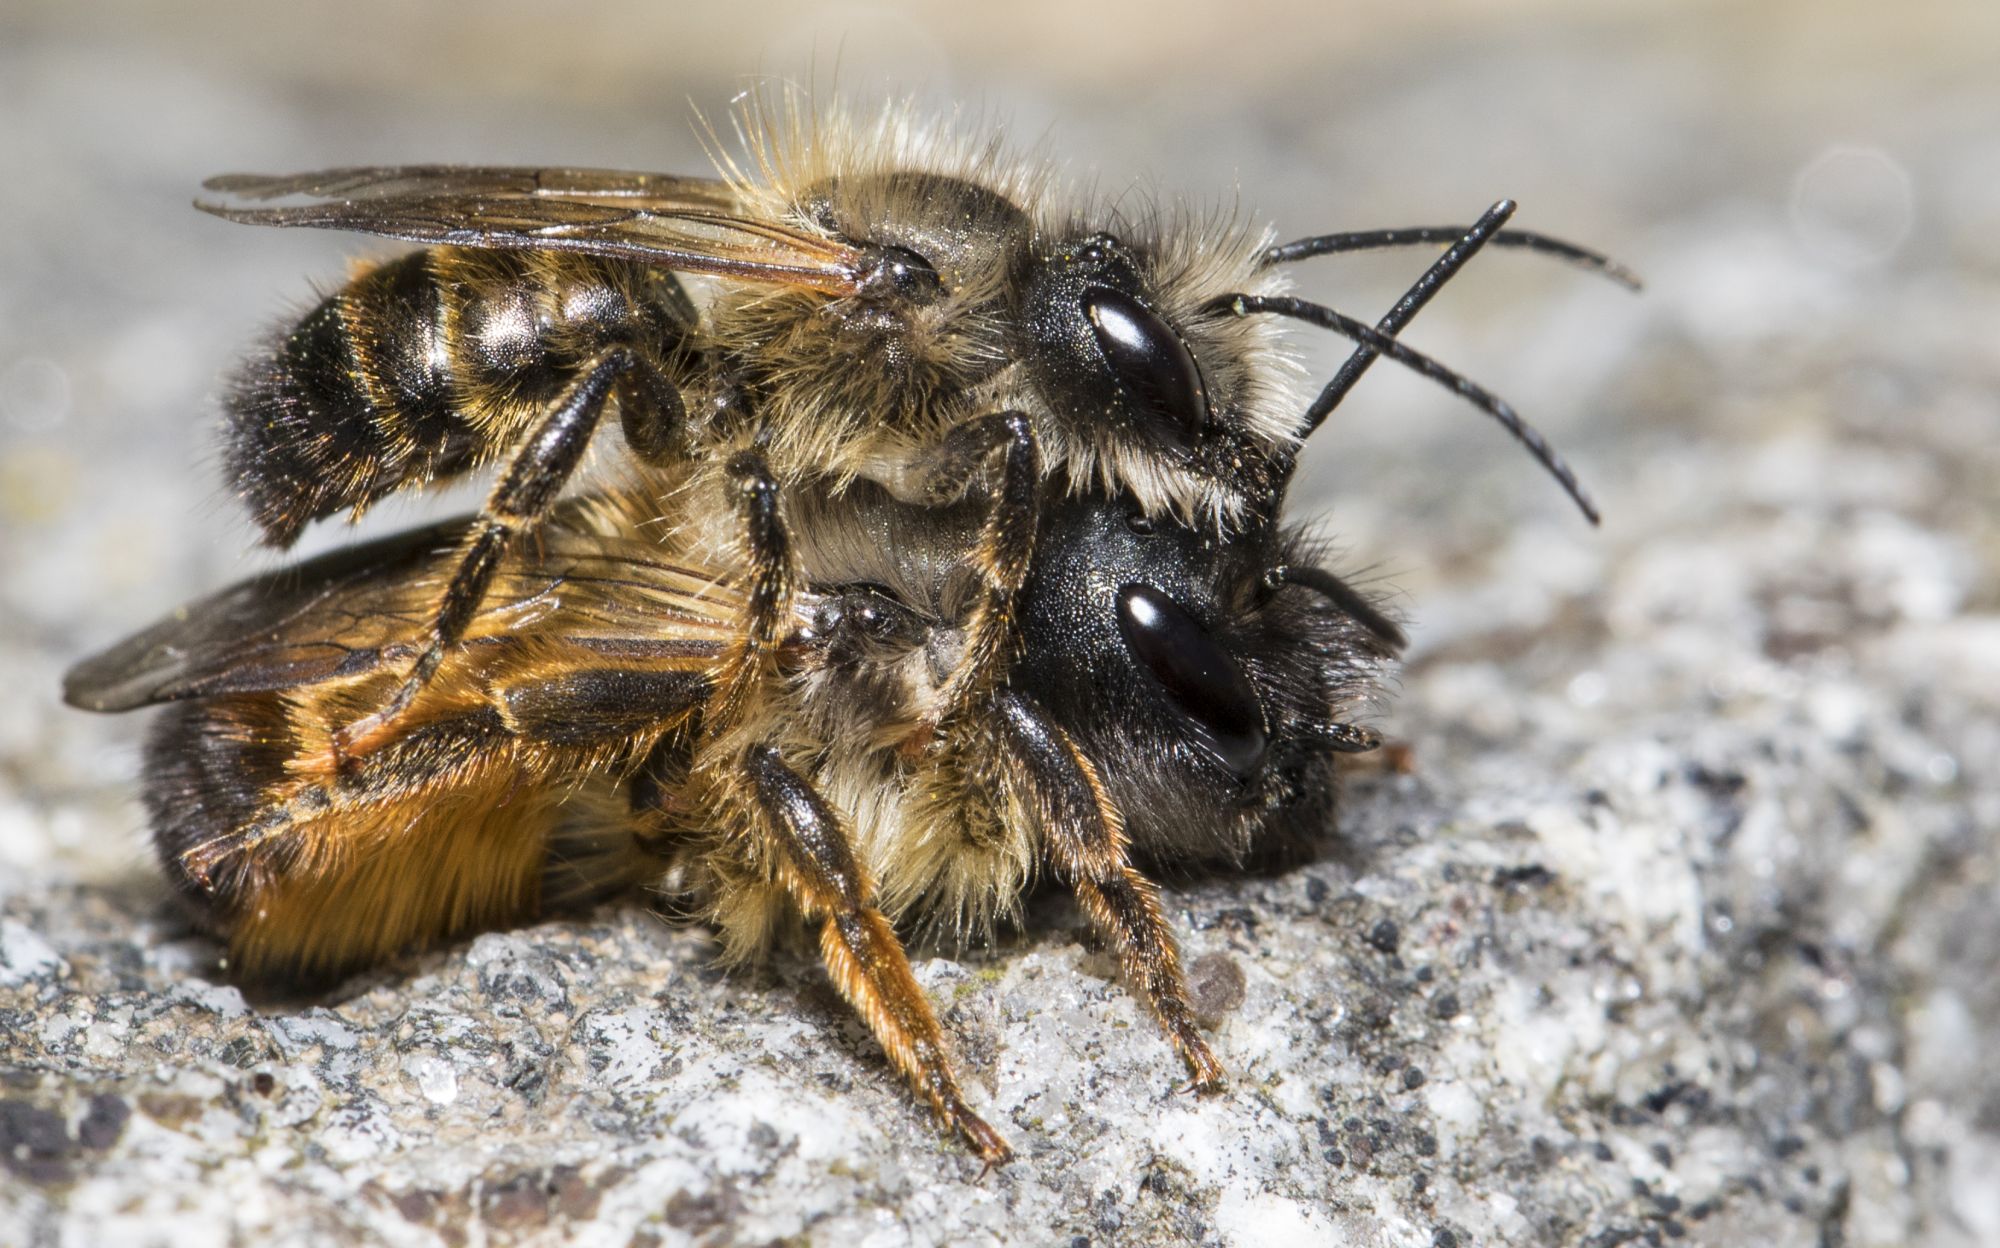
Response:
[{"label": "lower bee's black head with short dark hair, near the stone", "polygon": [[1086,496],[1044,516],[1008,684],[1064,724],[1156,860],[1328,826],[1334,754],[1402,634],[1274,524],[1216,534]]}]

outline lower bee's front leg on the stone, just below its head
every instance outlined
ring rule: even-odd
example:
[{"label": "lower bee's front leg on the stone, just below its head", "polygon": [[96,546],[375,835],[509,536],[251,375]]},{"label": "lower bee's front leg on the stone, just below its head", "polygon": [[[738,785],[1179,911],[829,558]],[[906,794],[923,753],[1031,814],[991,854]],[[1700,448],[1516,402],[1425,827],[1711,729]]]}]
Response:
[{"label": "lower bee's front leg on the stone, just below its head", "polygon": [[1188,980],[1166,916],[1160,914],[1158,890],[1126,860],[1124,820],[1104,792],[1098,768],[1024,694],[1004,690],[994,702],[1002,736],[1040,808],[1048,856],[1058,874],[1070,882],[1084,914],[1118,950],[1126,980],[1146,998],[1166,1038],[1188,1064],[1186,1088],[1222,1088],[1222,1062],[1194,1026]]}]

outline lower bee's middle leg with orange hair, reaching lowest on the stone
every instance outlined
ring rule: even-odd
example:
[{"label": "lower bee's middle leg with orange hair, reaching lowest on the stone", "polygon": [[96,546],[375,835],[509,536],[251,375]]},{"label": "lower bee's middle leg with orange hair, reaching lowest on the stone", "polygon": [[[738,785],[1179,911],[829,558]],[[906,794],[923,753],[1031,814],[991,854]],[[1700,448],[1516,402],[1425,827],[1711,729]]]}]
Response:
[{"label": "lower bee's middle leg with orange hair, reaching lowest on the stone", "polygon": [[902,942],[874,906],[874,888],[840,816],[770,746],[752,746],[738,776],[758,832],[776,850],[778,878],[806,918],[820,920],[820,956],[834,988],[938,1120],[988,1166],[1006,1164],[1014,1150],[966,1106],[938,1018],[910,974]]}]

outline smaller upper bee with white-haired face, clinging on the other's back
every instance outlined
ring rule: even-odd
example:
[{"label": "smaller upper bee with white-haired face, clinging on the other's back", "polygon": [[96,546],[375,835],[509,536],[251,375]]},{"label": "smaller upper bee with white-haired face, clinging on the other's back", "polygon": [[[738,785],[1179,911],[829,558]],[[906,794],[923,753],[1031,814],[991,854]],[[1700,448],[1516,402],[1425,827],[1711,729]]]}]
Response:
[{"label": "smaller upper bee with white-haired face, clinging on the other's back", "polygon": [[[198,206],[234,222],[422,244],[352,276],[236,376],[224,468],[266,542],[496,466],[404,680],[356,706],[334,734],[342,756],[392,736],[610,408],[638,462],[706,468],[698,494],[724,490],[730,458],[754,446],[782,488],[866,480],[936,504],[1028,472],[1230,530],[1280,504],[1290,456],[1338,402],[1328,388],[1298,414],[1274,320],[1294,316],[1474,400],[1594,516],[1504,402],[1284,294],[1290,262],[1446,244],[1462,228],[1272,246],[1094,210],[998,146],[926,134],[902,110],[868,126],[798,100],[748,108],[746,156],[720,158],[712,178],[402,166],[206,182]],[[1542,234],[1496,228],[1488,242],[1630,280]],[[988,654],[1032,546],[1026,488],[1012,496],[982,534],[982,566],[1002,582]]]}]

